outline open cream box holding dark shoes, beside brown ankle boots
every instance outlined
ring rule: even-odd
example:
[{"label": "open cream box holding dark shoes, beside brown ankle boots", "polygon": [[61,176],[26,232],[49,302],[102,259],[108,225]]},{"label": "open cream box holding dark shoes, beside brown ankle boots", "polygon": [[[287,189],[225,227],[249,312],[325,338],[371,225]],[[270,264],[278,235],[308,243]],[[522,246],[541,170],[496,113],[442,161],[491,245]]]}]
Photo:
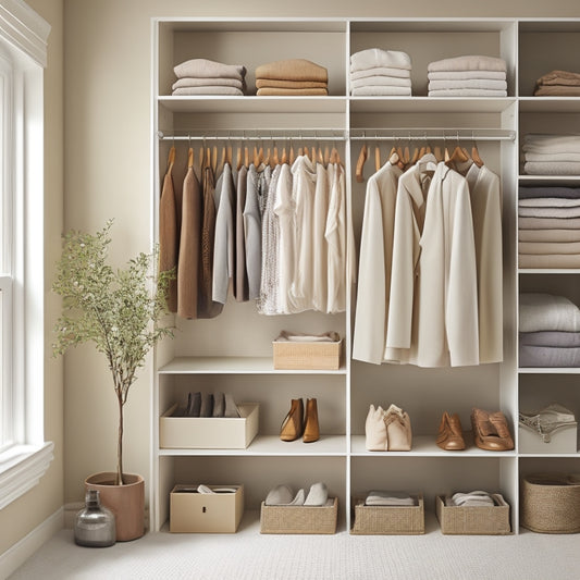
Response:
[{"label": "open cream box holding dark shoes, beside brown ankle boots", "polygon": [[257,403],[240,403],[240,417],[172,417],[173,405],[159,418],[159,446],[183,449],[245,449],[258,433]]}]

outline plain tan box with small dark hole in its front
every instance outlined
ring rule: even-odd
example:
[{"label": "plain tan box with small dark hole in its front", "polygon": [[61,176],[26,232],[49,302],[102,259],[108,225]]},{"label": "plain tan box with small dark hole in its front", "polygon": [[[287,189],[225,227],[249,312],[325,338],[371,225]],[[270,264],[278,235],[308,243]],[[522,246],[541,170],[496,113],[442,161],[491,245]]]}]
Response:
[{"label": "plain tan box with small dark hole in its front", "polygon": [[235,493],[198,493],[197,485],[175,485],[170,494],[170,532],[234,533],[244,515],[244,485],[208,485]]}]

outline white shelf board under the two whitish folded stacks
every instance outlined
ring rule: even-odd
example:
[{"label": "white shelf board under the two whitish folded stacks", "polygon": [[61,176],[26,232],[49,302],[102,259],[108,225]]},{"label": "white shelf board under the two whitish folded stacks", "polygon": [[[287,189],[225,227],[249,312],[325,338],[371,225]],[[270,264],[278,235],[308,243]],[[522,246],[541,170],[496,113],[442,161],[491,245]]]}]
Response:
[{"label": "white shelf board under the two whitish folded stacks", "polygon": [[499,113],[514,97],[349,97],[353,113]]}]

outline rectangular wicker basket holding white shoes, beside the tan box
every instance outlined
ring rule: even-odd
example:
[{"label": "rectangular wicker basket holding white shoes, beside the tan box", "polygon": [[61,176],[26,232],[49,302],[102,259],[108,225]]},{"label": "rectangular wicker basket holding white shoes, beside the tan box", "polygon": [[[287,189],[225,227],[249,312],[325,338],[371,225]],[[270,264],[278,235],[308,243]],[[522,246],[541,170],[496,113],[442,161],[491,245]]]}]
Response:
[{"label": "rectangular wicker basket holding white shoes, beside the tan box", "polygon": [[336,533],[338,498],[325,506],[267,506],[262,502],[260,533]]}]

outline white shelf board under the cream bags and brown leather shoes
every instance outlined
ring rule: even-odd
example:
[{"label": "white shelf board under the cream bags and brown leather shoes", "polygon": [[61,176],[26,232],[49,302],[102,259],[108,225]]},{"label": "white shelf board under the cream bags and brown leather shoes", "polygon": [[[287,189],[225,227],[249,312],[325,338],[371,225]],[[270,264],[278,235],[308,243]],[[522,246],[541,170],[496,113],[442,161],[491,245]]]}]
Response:
[{"label": "white shelf board under the cream bags and brown leather shoes", "polygon": [[412,437],[410,452],[368,452],[365,446],[365,435],[353,435],[350,437],[350,455],[358,457],[515,457],[511,452],[486,452],[470,444],[471,436],[465,434],[467,448],[462,452],[446,452],[437,447],[435,434],[419,435]]}]

